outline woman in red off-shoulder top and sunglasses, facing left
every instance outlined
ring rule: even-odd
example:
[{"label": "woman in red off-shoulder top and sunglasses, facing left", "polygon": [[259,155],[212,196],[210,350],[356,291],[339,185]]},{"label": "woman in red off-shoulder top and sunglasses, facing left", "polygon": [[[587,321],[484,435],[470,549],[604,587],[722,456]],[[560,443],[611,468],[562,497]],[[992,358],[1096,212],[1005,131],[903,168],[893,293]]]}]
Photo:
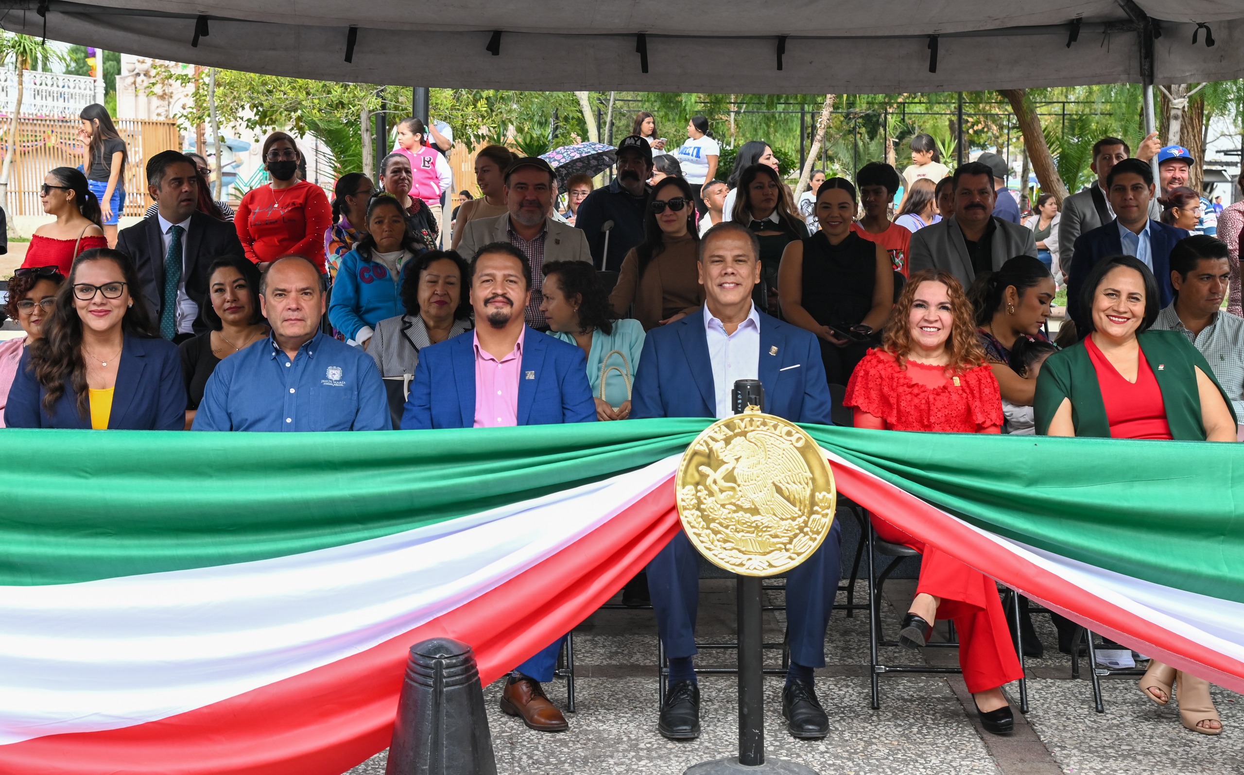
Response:
[{"label": "woman in red off-shoulder top and sunglasses, facing left", "polygon": [[24,269],[55,266],[63,277],[75,256],[108,246],[100,225],[100,200],[91,193],[86,175],[77,169],[57,167],[44,175],[39,203],[56,220],[35,229],[21,262]]}]

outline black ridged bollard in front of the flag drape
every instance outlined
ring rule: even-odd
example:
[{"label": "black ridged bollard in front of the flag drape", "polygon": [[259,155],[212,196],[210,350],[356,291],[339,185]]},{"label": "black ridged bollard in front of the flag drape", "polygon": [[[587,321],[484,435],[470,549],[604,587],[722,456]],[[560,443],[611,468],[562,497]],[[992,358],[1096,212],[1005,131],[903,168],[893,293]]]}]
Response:
[{"label": "black ridged bollard in front of the flag drape", "polygon": [[411,647],[386,775],[496,775],[493,735],[470,646]]}]

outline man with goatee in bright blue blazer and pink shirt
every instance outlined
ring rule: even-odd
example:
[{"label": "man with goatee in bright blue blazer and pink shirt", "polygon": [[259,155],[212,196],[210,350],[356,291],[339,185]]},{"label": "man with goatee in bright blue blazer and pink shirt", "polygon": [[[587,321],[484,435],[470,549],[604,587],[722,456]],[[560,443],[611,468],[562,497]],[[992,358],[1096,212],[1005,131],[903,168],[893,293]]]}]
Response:
[{"label": "man with goatee in bright blue blazer and pink shirt", "polygon": [[[583,351],[522,322],[531,265],[509,243],[484,245],[471,265],[475,332],[419,353],[402,415],[403,430],[500,428],[596,420]],[[501,710],[539,731],[566,729],[545,697],[562,638],[520,664],[501,693]]]}]

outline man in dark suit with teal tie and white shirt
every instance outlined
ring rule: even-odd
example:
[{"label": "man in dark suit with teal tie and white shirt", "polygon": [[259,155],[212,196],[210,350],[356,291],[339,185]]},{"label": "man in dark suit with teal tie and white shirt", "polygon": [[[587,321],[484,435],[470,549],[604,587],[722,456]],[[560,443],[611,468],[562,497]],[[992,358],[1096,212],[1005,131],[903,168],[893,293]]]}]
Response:
[{"label": "man in dark suit with teal tie and white shirt", "polygon": [[208,299],[208,267],[224,255],[245,255],[233,224],[197,209],[199,170],[190,157],[163,151],[147,162],[147,192],[156,215],[122,229],[117,250],[138,270],[137,289],[165,340],[208,330],[200,315]]}]

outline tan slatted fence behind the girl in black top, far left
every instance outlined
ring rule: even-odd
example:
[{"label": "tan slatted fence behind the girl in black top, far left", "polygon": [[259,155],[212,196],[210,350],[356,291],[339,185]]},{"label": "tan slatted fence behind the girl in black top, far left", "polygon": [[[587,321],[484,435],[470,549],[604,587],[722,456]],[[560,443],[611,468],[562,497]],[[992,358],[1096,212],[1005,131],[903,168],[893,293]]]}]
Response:
[{"label": "tan slatted fence behind the girl in black top, far left", "polygon": [[[179,151],[182,138],[175,121],[118,118],[114,123],[126,141],[126,207],[122,215],[142,215],[151,204],[144,173],[147,159],[160,151]],[[41,215],[44,208],[39,202],[39,189],[47,172],[55,167],[83,165],[86,146],[77,138],[81,126],[77,117],[17,119],[17,153],[9,172],[9,200],[5,203],[10,216]],[[0,122],[0,151],[7,152],[9,147],[9,121],[4,119]]]}]

